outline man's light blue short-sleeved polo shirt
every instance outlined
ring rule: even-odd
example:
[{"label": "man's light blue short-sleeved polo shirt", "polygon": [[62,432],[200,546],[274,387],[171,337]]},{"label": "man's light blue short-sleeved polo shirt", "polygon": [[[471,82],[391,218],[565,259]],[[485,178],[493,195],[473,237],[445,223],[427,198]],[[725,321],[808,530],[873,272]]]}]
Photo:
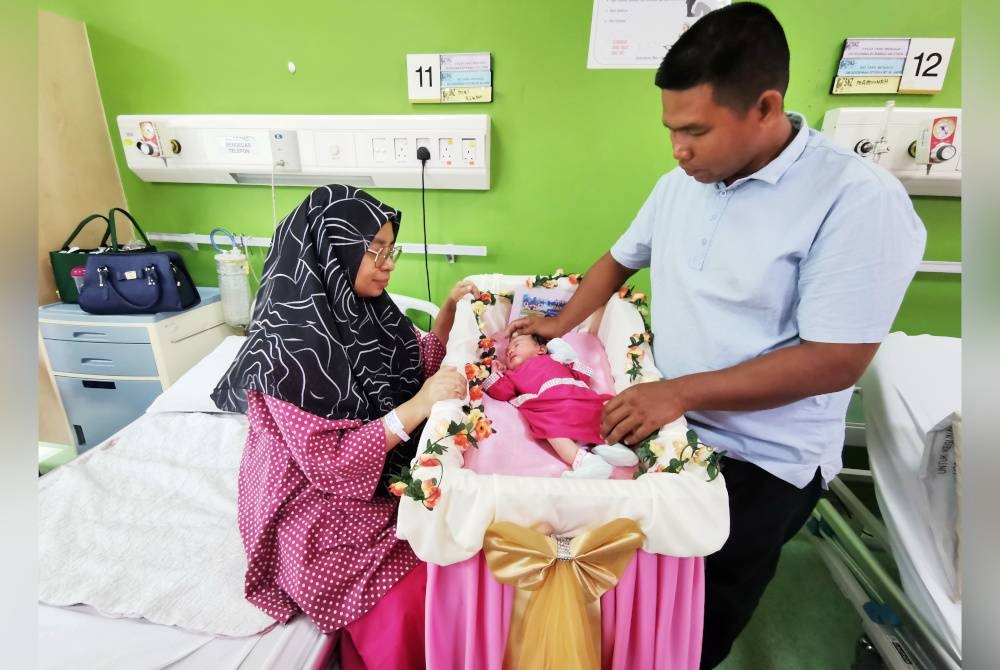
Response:
[{"label": "man's light blue short-sleeved polo shirt", "polygon": [[[730,186],[680,168],[611,249],[650,268],[653,353],[667,378],[813,342],[881,342],[926,231],[899,181],[790,114],[795,138]],[[702,441],[799,488],[841,467],[851,390],[757,412],[687,414]]]}]

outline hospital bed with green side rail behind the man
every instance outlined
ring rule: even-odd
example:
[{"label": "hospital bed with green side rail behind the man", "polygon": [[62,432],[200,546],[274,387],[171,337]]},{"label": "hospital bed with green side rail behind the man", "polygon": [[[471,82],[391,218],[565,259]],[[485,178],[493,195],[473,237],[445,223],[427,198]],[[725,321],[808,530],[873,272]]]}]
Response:
[{"label": "hospital bed with green side rail behind the man", "polygon": [[961,341],[892,333],[859,386],[880,515],[845,470],[808,524],[865,629],[854,667],[959,668]]}]

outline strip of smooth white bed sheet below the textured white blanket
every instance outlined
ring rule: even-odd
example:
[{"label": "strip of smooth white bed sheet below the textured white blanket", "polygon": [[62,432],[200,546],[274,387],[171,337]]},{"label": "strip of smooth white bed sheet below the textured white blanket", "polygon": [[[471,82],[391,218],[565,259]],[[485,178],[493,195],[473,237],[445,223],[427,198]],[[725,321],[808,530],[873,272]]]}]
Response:
[{"label": "strip of smooth white bed sheet below the textured white blanket", "polygon": [[332,644],[301,616],[262,635],[223,638],[105,617],[86,606],[40,606],[38,631],[40,670],[308,669]]}]

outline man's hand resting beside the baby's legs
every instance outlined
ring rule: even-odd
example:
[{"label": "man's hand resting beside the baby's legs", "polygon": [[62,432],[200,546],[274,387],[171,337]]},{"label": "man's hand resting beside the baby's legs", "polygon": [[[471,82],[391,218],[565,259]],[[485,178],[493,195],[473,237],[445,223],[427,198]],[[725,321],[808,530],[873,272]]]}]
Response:
[{"label": "man's hand resting beside the baby's legs", "polygon": [[601,435],[608,444],[634,446],[684,414],[679,387],[671,381],[631,386],[604,404]]}]

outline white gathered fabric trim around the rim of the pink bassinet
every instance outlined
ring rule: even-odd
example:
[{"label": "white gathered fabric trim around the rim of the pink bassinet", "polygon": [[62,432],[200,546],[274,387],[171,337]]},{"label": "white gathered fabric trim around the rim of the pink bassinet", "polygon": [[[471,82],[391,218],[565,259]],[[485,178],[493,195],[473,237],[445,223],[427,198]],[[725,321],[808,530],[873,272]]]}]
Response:
[{"label": "white gathered fabric trim around the rim of the pink bassinet", "polygon": [[[512,293],[530,281],[528,276],[476,275],[467,278],[481,291]],[[565,278],[559,288],[574,290]],[[506,306],[509,303],[504,303]],[[482,309],[481,307],[479,308]],[[444,365],[463,369],[478,362],[478,344],[484,334],[494,333],[507,322],[509,308],[494,306],[480,319],[473,311],[472,298],[458,304],[449,335]],[[635,305],[612,297],[602,311],[583,324],[595,333],[608,352],[616,392],[633,383],[661,378],[652,355],[639,361],[641,374],[634,381],[627,372],[627,351],[633,336],[645,331]],[[420,443],[437,439],[440,425],[463,420],[464,401],[437,403]],[[663,444],[684,440],[687,424],[683,417],[660,430]],[[500,439],[492,436],[487,439]],[[673,449],[663,461],[673,457]],[[482,548],[486,528],[494,521],[511,521],[522,526],[545,524],[554,534],[575,536],[616,518],[637,521],[645,534],[643,549],[668,556],[704,556],[717,551],[729,534],[729,502],[722,476],[709,480],[706,467],[688,462],[677,473],[648,472],[630,480],[566,480],[542,477],[480,475],[463,468],[462,452],[451,446],[438,457],[440,470],[418,467],[414,476],[433,477],[440,472],[441,496],[434,509],[422,502],[402,497],[397,535],[407,540],[422,560],[450,565],[475,555]]]}]

